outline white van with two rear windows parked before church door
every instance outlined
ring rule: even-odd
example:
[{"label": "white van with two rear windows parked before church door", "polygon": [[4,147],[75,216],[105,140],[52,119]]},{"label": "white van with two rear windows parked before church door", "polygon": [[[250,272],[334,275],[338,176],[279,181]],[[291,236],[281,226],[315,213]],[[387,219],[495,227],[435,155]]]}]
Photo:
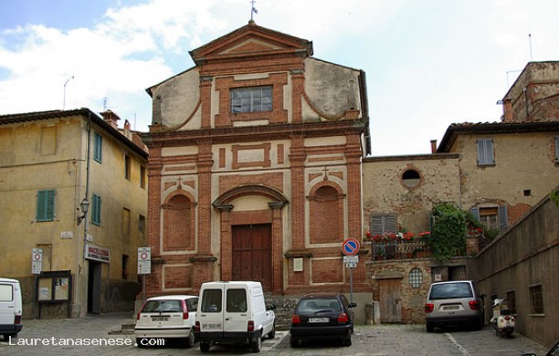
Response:
[{"label": "white van with two rear windows parked before church door", "polygon": [[200,351],[212,343],[247,343],[259,352],[262,337],[276,336],[275,307],[266,306],[260,282],[207,282],[200,288],[195,333]]}]

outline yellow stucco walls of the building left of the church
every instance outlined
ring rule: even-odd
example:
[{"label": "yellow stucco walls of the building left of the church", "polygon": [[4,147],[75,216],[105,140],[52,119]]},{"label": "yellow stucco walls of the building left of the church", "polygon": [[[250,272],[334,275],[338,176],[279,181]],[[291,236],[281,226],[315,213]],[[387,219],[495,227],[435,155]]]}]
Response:
[{"label": "yellow stucco walls of the building left of the church", "polygon": [[[93,131],[103,136],[103,161],[98,163],[91,159],[90,194],[99,194],[102,204],[101,225],[89,222],[88,233],[95,244],[111,249],[111,264],[103,265],[101,276],[122,280],[121,257],[127,255],[126,281],[138,286],[137,247],[145,246],[144,236],[138,231],[138,219],[139,215],[147,216],[147,190],[140,187],[140,165],[145,166],[146,162],[111,135],[92,126]],[[87,311],[85,223],[77,224],[77,218],[82,215],[79,202],[85,196],[86,185],[85,129],[86,120],[82,116],[0,125],[0,210],[3,212],[0,241],[2,246],[10,246],[10,253],[0,258],[0,271],[2,277],[22,281],[25,318],[33,317],[35,285],[31,257],[32,249],[37,247],[43,249],[43,271],[70,271],[73,281],[71,315],[85,315]],[[124,178],[125,152],[131,157],[130,180]],[[37,222],[39,190],[55,191],[53,221]],[[129,236],[123,234],[124,207],[131,211]],[[110,310],[128,302],[117,301],[117,297],[104,298],[107,303],[102,304],[101,309]],[[60,310],[52,309],[52,316],[67,317],[66,308]]]}]

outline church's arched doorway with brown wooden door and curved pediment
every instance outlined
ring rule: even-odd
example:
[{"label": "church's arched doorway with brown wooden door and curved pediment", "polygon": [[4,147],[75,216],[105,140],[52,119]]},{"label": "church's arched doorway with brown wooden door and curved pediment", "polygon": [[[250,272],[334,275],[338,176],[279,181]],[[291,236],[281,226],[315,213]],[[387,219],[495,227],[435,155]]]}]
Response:
[{"label": "church's arched doorway with brown wooden door and curved pediment", "polygon": [[238,186],[216,199],[223,280],[256,280],[264,290],[281,291],[285,204],[283,194],[265,185]]}]

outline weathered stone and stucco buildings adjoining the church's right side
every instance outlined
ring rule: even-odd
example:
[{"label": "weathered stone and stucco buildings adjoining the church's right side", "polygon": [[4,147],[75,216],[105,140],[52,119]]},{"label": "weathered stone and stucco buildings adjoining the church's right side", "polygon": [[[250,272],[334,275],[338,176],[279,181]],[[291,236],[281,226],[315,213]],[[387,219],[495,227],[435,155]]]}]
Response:
[{"label": "weathered stone and stucco buildings adjoining the church's right side", "polygon": [[[557,62],[532,62],[502,100],[501,122],[450,125],[438,147],[431,141],[431,154],[364,158],[364,226],[372,236],[407,231],[417,237],[430,229],[433,206],[451,202],[484,226],[477,246],[489,242],[484,236],[491,230],[506,232],[559,183],[558,96]],[[367,279],[380,303],[381,321],[422,322],[431,282],[480,276],[468,267],[476,264],[476,244],[469,257],[446,263],[418,254],[409,259],[401,253],[408,246],[413,244],[394,247],[393,258],[403,259],[384,260],[365,244],[373,257]],[[554,267],[541,261],[543,270]]]}]

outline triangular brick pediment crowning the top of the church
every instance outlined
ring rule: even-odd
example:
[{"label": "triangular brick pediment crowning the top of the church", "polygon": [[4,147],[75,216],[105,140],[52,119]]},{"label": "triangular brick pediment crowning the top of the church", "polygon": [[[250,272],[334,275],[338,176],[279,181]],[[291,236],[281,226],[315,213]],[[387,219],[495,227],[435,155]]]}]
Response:
[{"label": "triangular brick pediment crowning the top of the church", "polygon": [[212,42],[190,51],[196,64],[215,59],[242,58],[244,56],[292,54],[299,57],[312,55],[312,43],[269,28],[249,23],[237,30],[216,38]]}]

